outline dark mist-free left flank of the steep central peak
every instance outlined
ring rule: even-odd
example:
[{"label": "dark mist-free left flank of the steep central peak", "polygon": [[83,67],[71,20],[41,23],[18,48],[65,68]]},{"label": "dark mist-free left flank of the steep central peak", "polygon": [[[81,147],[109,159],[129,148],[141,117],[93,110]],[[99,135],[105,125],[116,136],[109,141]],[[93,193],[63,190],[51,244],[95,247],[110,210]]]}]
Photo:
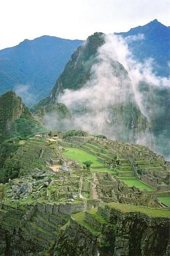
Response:
[{"label": "dark mist-free left flank of the steep central peak", "polygon": [[[96,55],[98,47],[104,44],[102,35],[103,33],[94,33],[92,36],[89,36],[87,38],[88,44],[78,47],[74,54],[71,55],[63,73],[59,76],[52,90],[51,97],[48,98],[50,102],[54,102],[58,94],[66,88],[77,90],[84,86],[85,82],[89,79],[90,70],[95,61],[93,56]],[[80,108],[76,108],[76,111],[79,112]]]}]

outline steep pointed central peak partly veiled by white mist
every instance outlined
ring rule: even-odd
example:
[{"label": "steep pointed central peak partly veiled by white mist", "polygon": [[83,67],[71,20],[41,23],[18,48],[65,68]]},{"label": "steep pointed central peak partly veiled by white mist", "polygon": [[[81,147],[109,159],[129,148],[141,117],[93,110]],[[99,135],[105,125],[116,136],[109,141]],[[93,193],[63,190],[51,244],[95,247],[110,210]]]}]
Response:
[{"label": "steep pointed central peak partly veiled by white mist", "polygon": [[105,36],[94,33],[72,54],[48,103],[63,102],[75,124],[92,134],[132,143],[152,144],[147,118],[135,100],[123,65],[105,49]]}]

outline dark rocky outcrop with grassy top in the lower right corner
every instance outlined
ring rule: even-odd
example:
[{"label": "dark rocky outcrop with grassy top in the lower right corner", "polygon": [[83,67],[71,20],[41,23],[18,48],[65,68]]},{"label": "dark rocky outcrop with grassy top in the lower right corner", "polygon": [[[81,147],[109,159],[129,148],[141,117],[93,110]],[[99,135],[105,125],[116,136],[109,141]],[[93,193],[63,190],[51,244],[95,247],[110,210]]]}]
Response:
[{"label": "dark rocky outcrop with grassy top in the lower right corner", "polygon": [[170,212],[109,203],[71,216],[54,255],[169,255]]}]

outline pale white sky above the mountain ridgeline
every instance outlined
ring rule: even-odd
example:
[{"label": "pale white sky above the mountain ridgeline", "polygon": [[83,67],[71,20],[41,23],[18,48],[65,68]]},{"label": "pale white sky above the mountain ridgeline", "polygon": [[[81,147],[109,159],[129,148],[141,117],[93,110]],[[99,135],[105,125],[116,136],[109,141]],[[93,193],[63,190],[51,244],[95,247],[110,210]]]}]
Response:
[{"label": "pale white sky above the mountain ridgeline", "polygon": [[170,26],[169,13],[169,0],[1,0],[0,49],[42,35],[126,32],[155,18]]}]

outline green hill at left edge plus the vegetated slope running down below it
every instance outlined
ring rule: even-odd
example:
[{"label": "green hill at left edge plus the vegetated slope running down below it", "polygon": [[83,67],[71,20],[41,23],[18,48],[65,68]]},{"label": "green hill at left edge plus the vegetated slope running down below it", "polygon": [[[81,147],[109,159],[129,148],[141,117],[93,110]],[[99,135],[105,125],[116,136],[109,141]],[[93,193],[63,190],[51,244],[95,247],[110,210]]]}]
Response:
[{"label": "green hill at left edge plus the vegetated slope running down below it", "polygon": [[11,163],[14,153],[34,133],[43,132],[29,109],[15,92],[8,91],[0,97],[0,182],[16,178],[19,164]]}]

